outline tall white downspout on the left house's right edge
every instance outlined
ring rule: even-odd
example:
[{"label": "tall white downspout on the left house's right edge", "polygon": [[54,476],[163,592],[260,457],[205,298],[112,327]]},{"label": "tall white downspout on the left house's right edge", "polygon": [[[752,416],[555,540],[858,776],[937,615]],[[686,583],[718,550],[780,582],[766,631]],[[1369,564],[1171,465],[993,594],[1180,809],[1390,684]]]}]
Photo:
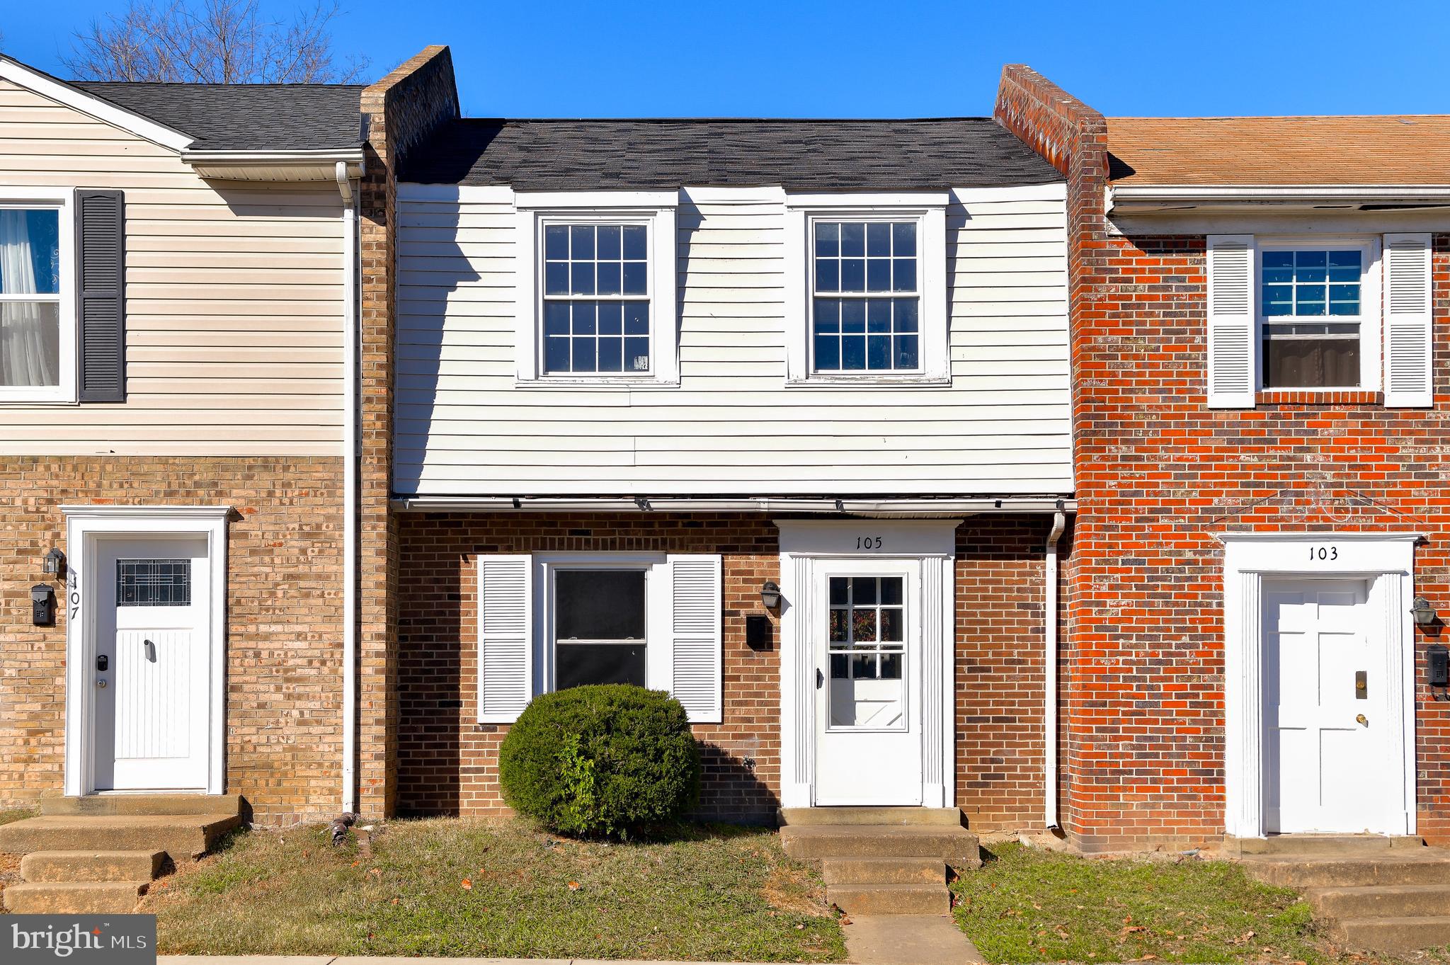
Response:
[{"label": "tall white downspout on the left house's right edge", "polygon": [[342,810],[357,810],[358,651],[358,222],[348,165],[338,161],[342,194]]}]

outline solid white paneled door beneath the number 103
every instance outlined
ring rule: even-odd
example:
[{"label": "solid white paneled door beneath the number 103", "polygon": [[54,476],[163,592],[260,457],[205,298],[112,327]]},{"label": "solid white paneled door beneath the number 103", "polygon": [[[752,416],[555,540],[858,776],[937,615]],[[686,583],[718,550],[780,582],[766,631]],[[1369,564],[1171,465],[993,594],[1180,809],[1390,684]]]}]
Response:
[{"label": "solid white paneled door beneath the number 103", "polygon": [[1264,581],[1269,833],[1395,827],[1389,738],[1402,722],[1388,695],[1402,681],[1386,680],[1385,620],[1369,598],[1367,580]]}]

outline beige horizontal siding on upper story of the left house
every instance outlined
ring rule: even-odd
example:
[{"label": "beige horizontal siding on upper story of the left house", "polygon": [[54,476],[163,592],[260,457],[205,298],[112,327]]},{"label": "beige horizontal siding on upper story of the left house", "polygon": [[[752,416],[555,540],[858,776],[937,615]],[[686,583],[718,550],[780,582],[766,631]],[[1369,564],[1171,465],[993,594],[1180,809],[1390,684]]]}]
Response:
[{"label": "beige horizontal siding on upper story of the left house", "polygon": [[0,454],[342,454],[335,187],[209,183],[0,81],[0,197],[7,185],[125,190],[128,394],[0,403]]}]

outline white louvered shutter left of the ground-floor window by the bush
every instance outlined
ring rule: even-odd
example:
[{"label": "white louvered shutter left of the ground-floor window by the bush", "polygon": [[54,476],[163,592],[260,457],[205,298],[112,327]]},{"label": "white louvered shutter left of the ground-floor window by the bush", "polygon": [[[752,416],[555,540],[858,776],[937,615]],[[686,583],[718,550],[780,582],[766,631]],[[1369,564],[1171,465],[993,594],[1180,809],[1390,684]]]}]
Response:
[{"label": "white louvered shutter left of the ground-floor window by the bush", "polygon": [[478,723],[512,723],[534,695],[532,565],[478,555]]}]

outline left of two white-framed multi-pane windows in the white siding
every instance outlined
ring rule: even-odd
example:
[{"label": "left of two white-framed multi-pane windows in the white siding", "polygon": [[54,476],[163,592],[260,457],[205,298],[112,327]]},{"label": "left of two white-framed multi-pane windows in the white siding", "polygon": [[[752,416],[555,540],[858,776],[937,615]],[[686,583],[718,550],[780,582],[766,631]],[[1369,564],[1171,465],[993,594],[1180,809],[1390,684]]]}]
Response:
[{"label": "left of two white-framed multi-pane windows in the white siding", "polygon": [[521,385],[679,383],[677,193],[515,196]]}]

